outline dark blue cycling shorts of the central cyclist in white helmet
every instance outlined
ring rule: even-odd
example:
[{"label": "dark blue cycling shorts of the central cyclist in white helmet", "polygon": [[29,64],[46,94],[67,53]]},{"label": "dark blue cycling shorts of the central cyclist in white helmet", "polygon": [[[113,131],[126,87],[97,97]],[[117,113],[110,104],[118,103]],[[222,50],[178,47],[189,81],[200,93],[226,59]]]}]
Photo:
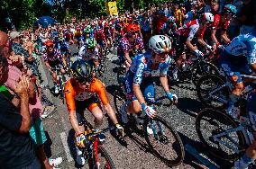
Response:
[{"label": "dark blue cycling shorts of the central cyclist in white helmet", "polygon": [[[138,99],[133,93],[133,77],[134,73],[131,70],[129,70],[125,77],[125,90],[127,93],[127,99],[136,101]],[[155,98],[155,88],[151,76],[144,77],[142,79],[142,84],[140,85],[140,88],[146,102],[153,102]]]}]

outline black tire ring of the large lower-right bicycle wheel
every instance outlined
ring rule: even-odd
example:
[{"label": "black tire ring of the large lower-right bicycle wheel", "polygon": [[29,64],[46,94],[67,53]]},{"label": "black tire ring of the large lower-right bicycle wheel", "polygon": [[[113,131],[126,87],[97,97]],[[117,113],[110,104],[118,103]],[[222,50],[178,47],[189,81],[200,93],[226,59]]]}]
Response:
[{"label": "black tire ring of the large lower-right bicycle wheel", "polygon": [[[209,119],[209,118],[207,118],[207,116],[209,116],[209,118],[210,117],[212,117],[212,118]],[[211,131],[209,128],[206,128],[206,125],[203,125],[203,123],[202,123],[202,120],[206,120],[206,119],[209,119],[208,120],[209,123],[217,125],[217,122],[219,122],[219,123],[223,122],[224,124],[231,125],[233,128],[238,127],[238,123],[235,120],[233,120],[233,118],[231,116],[227,115],[226,113],[224,113],[222,111],[214,110],[211,108],[207,108],[207,109],[204,109],[203,111],[200,111],[197,114],[197,119],[196,119],[196,129],[197,129],[198,138],[201,140],[204,147],[206,147],[206,149],[209,151],[209,153],[211,153],[215,157],[224,159],[226,161],[234,161],[234,160],[238,159],[242,155],[242,152],[240,154],[236,154],[235,152],[233,152],[228,155],[228,152],[224,152],[224,150],[220,147],[220,146],[224,147],[224,145],[219,145],[218,148],[214,147],[214,145],[213,146],[209,145],[206,138],[203,136],[202,129],[205,129],[206,132],[210,133],[210,135],[208,137],[209,141],[211,141],[211,139],[213,139],[212,134],[213,134],[213,132],[216,132],[217,129],[214,129],[213,131]],[[219,127],[219,128],[221,130],[224,130],[224,127]],[[231,128],[228,128],[228,129],[231,129]],[[242,131],[236,131],[235,133],[237,134],[239,149],[240,150],[245,149],[245,138],[242,135]],[[213,140],[212,143],[217,145],[218,142]]]}]

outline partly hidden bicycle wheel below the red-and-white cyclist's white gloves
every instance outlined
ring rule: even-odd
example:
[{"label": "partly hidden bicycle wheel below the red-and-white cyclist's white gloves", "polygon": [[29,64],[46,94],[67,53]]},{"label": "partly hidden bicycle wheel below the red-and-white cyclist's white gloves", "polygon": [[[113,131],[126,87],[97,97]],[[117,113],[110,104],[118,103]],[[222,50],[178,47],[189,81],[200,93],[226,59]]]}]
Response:
[{"label": "partly hidden bicycle wheel below the red-and-white cyclist's white gloves", "polygon": [[[210,69],[208,69],[209,67]],[[205,75],[219,75],[219,70],[214,64],[206,61],[201,61],[191,68],[191,81],[193,84],[196,85],[199,78]]]}]

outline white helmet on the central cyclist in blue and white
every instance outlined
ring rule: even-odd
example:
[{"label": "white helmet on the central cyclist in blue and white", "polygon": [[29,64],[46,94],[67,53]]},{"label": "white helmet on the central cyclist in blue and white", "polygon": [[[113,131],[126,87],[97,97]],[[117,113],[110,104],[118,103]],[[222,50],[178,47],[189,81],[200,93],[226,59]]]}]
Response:
[{"label": "white helmet on the central cyclist in blue and white", "polygon": [[155,35],[152,36],[149,41],[149,48],[158,54],[169,52],[171,49],[171,42],[167,36]]}]

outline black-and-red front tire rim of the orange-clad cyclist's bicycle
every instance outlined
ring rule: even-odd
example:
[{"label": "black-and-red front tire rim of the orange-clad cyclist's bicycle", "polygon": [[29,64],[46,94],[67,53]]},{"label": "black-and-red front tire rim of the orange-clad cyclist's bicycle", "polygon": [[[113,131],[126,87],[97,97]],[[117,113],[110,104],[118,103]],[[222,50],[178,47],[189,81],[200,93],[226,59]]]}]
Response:
[{"label": "black-and-red front tire rim of the orange-clad cyclist's bicycle", "polygon": [[[114,162],[112,161],[111,157],[108,155],[107,151],[105,150],[104,147],[102,147],[101,145],[98,145],[97,147],[98,149],[98,156],[101,155],[105,158],[105,165],[100,167],[100,168],[104,168],[104,169],[115,169],[114,167]],[[95,155],[94,155],[95,157]],[[94,159],[94,168],[97,169],[96,167],[96,159]]]}]

